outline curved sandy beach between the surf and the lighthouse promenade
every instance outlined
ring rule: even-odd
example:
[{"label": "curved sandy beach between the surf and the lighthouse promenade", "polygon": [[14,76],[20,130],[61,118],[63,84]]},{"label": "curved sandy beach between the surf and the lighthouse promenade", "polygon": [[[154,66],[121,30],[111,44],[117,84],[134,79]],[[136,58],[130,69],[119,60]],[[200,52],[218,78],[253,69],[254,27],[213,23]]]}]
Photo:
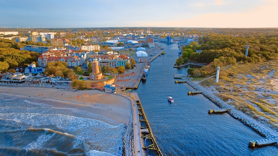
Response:
[{"label": "curved sandy beach between the surf and the lighthouse promenade", "polygon": [[[132,115],[129,99],[98,90],[73,92],[73,90],[47,87],[0,86],[0,92],[0,99],[15,98],[62,108],[84,110],[103,115],[118,123],[128,124]],[[103,120],[103,122],[107,122],[107,120]],[[117,125],[117,122],[109,124]]]}]

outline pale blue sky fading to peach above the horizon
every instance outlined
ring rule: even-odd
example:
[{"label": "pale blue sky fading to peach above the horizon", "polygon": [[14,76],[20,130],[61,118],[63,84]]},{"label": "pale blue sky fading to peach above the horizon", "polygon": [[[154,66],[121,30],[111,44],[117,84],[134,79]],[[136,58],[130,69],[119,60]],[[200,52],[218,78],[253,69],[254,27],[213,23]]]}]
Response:
[{"label": "pale blue sky fading to peach above the horizon", "polygon": [[1,0],[0,27],[278,27],[278,0]]}]

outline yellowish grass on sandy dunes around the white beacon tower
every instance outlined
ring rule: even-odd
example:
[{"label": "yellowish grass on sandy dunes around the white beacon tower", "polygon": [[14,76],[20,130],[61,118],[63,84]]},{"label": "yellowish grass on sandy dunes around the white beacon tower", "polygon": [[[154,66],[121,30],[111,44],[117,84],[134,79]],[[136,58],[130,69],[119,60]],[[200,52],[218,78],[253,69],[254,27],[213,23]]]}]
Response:
[{"label": "yellowish grass on sandy dunes around the white beacon tower", "polygon": [[[228,102],[229,105],[234,105],[238,110],[244,108],[242,111],[246,115],[263,123],[270,122],[278,129],[278,95],[269,94],[273,91],[271,80],[278,76],[277,64],[277,60],[256,64],[239,63],[220,71],[225,73],[222,73],[218,83],[215,83],[215,77],[212,77],[199,84],[204,87],[213,87],[219,92],[216,96]],[[270,73],[274,76],[269,75]],[[269,100],[272,102],[269,103]]]}]

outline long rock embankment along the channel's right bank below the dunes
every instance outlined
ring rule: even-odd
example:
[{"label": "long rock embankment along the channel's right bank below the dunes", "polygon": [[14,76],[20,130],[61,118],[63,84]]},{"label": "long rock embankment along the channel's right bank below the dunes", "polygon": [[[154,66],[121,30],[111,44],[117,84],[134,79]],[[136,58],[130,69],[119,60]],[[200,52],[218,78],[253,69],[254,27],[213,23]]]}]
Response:
[{"label": "long rock embankment along the channel's right bank below the dunes", "polygon": [[[186,83],[188,85],[190,85],[192,88],[194,88],[197,91],[201,91],[203,89],[201,89],[200,85],[195,84],[194,82],[192,82],[189,78],[187,77],[182,77],[182,80],[185,80]],[[219,100],[218,98],[214,97],[213,95],[209,94],[208,92],[204,91],[202,93],[202,95],[204,95],[206,98],[208,98],[209,100],[211,100],[211,102],[213,102],[215,105],[217,105],[220,108],[230,108],[230,106],[228,104],[225,104],[224,102],[222,102],[221,100]],[[261,127],[260,125],[256,124],[255,122],[251,121],[250,119],[247,119],[245,116],[240,115],[238,113],[238,111],[236,110],[230,110],[228,111],[228,113],[234,117],[235,119],[240,120],[243,124],[249,126],[251,129],[253,129],[255,132],[257,132],[258,134],[261,134],[262,136],[266,137],[266,138],[273,138],[273,137],[277,137],[276,135],[272,134],[271,132],[267,131],[266,129],[264,129],[263,127]]]}]

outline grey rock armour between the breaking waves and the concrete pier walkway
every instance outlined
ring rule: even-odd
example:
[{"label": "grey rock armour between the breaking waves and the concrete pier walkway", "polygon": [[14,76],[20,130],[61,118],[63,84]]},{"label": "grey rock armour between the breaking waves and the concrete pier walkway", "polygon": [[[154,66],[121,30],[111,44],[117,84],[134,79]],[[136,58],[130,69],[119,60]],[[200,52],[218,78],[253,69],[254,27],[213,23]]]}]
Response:
[{"label": "grey rock armour between the breaking waves and the concrete pier walkway", "polygon": [[133,141],[133,120],[130,119],[130,122],[127,126],[126,132],[123,136],[123,154],[125,156],[134,156],[134,141]]}]

